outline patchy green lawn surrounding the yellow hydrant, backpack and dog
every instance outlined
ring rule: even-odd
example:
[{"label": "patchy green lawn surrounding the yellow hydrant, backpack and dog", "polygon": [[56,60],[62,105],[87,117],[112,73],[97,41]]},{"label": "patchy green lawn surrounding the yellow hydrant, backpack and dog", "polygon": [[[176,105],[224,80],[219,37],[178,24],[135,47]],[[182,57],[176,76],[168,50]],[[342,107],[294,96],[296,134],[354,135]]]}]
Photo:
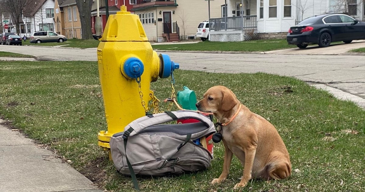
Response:
[{"label": "patchy green lawn surrounding the yellow hydrant, backpack and dog", "polygon": [[[176,90],[186,85],[198,99],[211,86],[229,87],[283,138],[292,176],[281,181],[253,180],[242,191],[365,190],[365,111],[354,103],[277,75],[177,70],[174,76]],[[107,126],[99,84],[96,62],[0,61],[0,114],[30,138],[70,159],[75,169],[101,187],[133,191],[131,178],[118,174],[97,145],[97,133]],[[170,79],[151,85],[158,98],[169,97]],[[149,192],[231,191],[242,176],[242,166],[234,158],[227,180],[210,185],[222,170],[222,143],[215,144],[214,157],[206,171],[138,178],[139,185]]]}]

